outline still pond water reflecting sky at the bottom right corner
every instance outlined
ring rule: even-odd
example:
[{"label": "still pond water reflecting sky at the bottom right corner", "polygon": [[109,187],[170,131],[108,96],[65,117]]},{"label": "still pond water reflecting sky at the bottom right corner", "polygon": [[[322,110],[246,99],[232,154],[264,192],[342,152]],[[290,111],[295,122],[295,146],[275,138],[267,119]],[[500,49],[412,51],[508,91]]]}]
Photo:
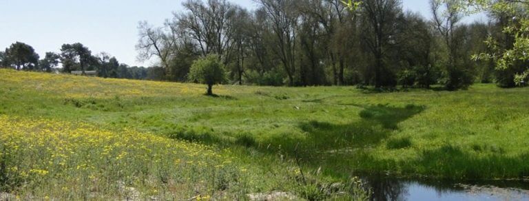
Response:
[{"label": "still pond water reflecting sky at the bottom right corner", "polygon": [[427,182],[364,178],[372,200],[529,200],[528,181]]}]

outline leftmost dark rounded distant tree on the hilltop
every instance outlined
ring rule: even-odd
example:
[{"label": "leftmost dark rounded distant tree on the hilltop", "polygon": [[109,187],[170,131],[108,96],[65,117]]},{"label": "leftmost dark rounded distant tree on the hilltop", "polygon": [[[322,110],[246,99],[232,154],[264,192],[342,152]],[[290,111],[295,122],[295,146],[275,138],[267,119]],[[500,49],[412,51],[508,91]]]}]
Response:
[{"label": "leftmost dark rounded distant tree on the hilltop", "polygon": [[39,54],[30,45],[17,42],[6,49],[6,61],[17,70],[34,70],[39,63]]}]

